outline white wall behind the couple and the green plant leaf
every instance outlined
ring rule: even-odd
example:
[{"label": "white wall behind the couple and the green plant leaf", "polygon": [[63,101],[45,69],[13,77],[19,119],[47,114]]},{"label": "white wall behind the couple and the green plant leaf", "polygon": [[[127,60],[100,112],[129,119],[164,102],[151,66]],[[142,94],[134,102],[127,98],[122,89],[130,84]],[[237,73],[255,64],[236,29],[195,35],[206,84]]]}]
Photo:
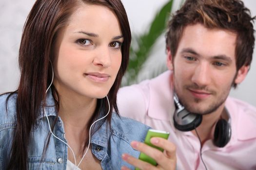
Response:
[{"label": "white wall behind the couple and the green plant leaf", "polygon": [[[140,34],[147,30],[156,12],[168,0],[122,0],[133,34]],[[256,15],[256,1],[243,0]],[[1,0],[0,1],[0,93],[15,90],[19,82],[18,52],[20,37],[25,19],[35,0]],[[174,9],[179,6],[176,0]],[[255,24],[256,28],[256,24]],[[147,78],[150,70],[160,66],[165,67],[165,42],[162,36],[151,54],[150,62],[145,64],[140,79]],[[256,50],[255,50],[256,51]],[[158,63],[156,65],[155,63]],[[149,69],[151,68],[151,69]],[[248,76],[231,96],[244,100],[256,106],[256,52]]]}]

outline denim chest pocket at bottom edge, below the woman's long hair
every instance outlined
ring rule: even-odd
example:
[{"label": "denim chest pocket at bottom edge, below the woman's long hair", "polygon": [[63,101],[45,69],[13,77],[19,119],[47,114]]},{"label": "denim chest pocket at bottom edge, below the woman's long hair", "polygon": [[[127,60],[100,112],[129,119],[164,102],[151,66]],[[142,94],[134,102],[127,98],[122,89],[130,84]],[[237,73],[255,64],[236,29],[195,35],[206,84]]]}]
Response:
[{"label": "denim chest pocket at bottom edge, below the woman's long hair", "polygon": [[56,161],[49,158],[41,158],[40,156],[28,157],[29,170],[55,170]]}]

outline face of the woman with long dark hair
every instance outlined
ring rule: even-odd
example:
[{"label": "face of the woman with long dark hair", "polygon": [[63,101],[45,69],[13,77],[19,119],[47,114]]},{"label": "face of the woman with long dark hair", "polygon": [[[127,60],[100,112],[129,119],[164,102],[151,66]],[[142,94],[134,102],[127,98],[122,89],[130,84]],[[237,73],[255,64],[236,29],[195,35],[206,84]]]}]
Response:
[{"label": "face of the woman with long dark hair", "polygon": [[107,7],[82,4],[55,44],[54,85],[59,94],[104,98],[121,65],[123,36]]}]

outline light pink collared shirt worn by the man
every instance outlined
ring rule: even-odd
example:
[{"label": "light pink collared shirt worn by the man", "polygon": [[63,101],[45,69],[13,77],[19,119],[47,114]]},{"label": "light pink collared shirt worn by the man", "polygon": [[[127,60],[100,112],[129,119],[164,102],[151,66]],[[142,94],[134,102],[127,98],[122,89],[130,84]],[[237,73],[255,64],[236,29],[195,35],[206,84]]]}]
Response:
[{"label": "light pink collared shirt worn by the man", "polygon": [[[200,143],[192,132],[174,127],[171,71],[138,85],[118,91],[118,109],[122,116],[141,121],[154,129],[170,132],[169,140],[177,146],[177,170],[205,170],[200,159]],[[208,140],[202,158],[208,170],[256,170],[256,108],[228,97],[232,136],[223,148]]]}]

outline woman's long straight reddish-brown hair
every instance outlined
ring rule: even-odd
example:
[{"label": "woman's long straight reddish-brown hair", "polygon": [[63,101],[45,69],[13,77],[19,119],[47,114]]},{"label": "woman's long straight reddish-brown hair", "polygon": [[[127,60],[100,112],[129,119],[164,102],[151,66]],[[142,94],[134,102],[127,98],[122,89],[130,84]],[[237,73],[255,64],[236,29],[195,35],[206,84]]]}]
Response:
[{"label": "woman's long straight reddish-brown hair", "polygon": [[[122,76],[128,65],[131,43],[130,26],[121,1],[37,0],[27,17],[21,37],[19,52],[20,84],[16,91],[18,93],[16,103],[17,127],[13,136],[11,156],[7,165],[8,170],[28,169],[28,145],[31,131],[36,124],[39,108],[45,103],[45,91],[52,79],[50,61],[51,58],[54,57],[52,56],[54,41],[59,30],[67,25],[68,19],[73,12],[79,8],[80,3],[106,6],[118,17],[124,38],[121,47],[122,62],[114,85],[111,87],[108,94],[110,113],[107,117],[107,121],[110,123],[113,108],[118,113],[116,102],[117,92],[121,84]],[[52,89],[53,92],[58,94],[54,86]],[[10,95],[12,94],[13,93]],[[56,99],[56,101],[58,111],[58,99]],[[98,108],[98,110],[108,110],[106,99],[101,99],[101,102],[103,103],[102,108]],[[91,123],[96,117],[98,117],[98,114],[95,114],[94,117],[91,118]],[[45,141],[45,143],[47,143],[47,141]]]}]

